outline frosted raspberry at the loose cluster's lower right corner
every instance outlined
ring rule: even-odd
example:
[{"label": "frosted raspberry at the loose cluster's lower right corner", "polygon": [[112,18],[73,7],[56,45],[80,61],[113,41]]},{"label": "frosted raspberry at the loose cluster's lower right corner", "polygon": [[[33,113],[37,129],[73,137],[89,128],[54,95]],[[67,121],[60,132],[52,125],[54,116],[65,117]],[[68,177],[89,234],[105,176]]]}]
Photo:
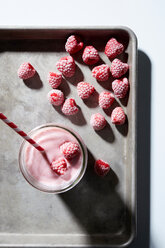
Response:
[{"label": "frosted raspberry at the loose cluster's lower right corner", "polygon": [[111,121],[115,125],[122,125],[125,122],[125,113],[121,107],[116,107],[111,114]]}]

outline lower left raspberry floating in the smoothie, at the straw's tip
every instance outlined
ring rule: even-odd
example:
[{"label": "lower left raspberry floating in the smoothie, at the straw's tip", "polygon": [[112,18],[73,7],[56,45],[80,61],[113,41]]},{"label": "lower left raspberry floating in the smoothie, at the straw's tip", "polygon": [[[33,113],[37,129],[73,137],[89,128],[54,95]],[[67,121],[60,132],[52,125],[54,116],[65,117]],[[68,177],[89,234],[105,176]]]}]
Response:
[{"label": "lower left raspberry floating in the smoothie, at the straw's tip", "polygon": [[67,163],[64,158],[59,158],[57,160],[54,160],[51,163],[50,167],[56,174],[61,176],[64,175],[65,171],[67,170]]}]

